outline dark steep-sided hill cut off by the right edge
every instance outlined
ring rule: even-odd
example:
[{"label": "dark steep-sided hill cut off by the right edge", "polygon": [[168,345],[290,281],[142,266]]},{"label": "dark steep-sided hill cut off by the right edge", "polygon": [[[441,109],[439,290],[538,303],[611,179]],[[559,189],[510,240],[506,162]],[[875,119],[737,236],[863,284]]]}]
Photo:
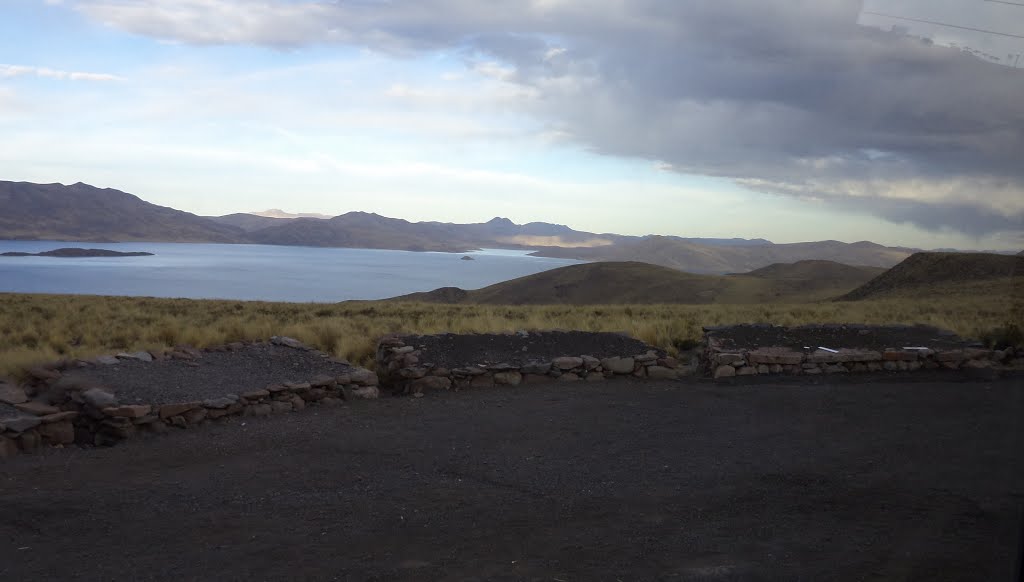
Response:
[{"label": "dark steep-sided hill cut off by the right edge", "polygon": [[993,253],[915,253],[841,299],[978,294],[1020,301],[1024,294],[1024,257]]}]

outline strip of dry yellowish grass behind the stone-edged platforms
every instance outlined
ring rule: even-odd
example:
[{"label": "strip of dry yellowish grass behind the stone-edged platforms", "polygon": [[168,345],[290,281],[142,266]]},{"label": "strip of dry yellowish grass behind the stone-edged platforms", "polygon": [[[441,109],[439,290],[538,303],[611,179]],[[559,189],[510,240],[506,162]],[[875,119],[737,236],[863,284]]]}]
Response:
[{"label": "strip of dry yellowish grass behind the stone-edged platforms", "polygon": [[991,295],[766,305],[501,306],[0,294],[0,376],[60,358],[204,347],[271,335],[296,337],[364,366],[372,365],[377,339],[393,332],[626,331],[674,350],[699,339],[701,326],[752,322],[922,323],[979,338],[1007,324],[1020,325],[1024,316],[1019,303]]}]

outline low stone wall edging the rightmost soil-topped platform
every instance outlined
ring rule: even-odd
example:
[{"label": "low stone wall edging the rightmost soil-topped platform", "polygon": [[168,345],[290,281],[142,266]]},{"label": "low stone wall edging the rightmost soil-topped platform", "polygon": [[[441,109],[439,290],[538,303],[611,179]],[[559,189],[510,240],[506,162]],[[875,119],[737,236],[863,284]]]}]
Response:
[{"label": "low stone wall edging the rightmost soil-topped platform", "polygon": [[[738,327],[738,326],[737,326]],[[868,326],[862,326],[868,327]],[[714,329],[721,332],[723,328]],[[883,349],[808,346],[736,347],[706,333],[701,368],[714,378],[771,374],[817,375],[863,372],[916,372],[919,370],[1024,369],[1024,350],[986,349],[977,346],[932,348],[900,346]]]}]

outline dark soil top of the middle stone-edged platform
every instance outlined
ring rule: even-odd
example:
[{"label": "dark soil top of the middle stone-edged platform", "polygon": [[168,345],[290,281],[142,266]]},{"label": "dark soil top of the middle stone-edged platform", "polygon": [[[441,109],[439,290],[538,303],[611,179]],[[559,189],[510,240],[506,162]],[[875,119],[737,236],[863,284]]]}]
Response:
[{"label": "dark soil top of the middle stone-edged platform", "polygon": [[423,352],[420,362],[442,368],[472,364],[510,364],[550,362],[563,356],[637,356],[654,349],[621,333],[549,331],[515,334],[440,334],[402,337],[407,345]]}]

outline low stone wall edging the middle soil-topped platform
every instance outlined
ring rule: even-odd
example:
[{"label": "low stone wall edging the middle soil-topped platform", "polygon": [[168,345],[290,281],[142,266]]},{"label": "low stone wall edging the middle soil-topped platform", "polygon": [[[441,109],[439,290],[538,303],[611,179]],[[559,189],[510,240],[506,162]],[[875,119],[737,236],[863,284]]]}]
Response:
[{"label": "low stone wall edging the middle soil-topped platform", "polygon": [[[625,377],[674,380],[695,371],[695,367],[653,347],[642,354],[604,358],[572,355],[514,363],[464,362],[443,367],[427,361],[423,346],[416,344],[418,337],[389,336],[380,341],[377,371],[382,386],[395,393],[422,397],[436,390],[538,382],[595,382]],[[565,345],[564,351],[572,354],[572,346]]]}]

